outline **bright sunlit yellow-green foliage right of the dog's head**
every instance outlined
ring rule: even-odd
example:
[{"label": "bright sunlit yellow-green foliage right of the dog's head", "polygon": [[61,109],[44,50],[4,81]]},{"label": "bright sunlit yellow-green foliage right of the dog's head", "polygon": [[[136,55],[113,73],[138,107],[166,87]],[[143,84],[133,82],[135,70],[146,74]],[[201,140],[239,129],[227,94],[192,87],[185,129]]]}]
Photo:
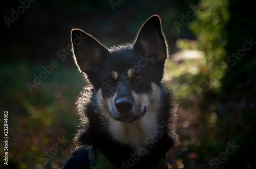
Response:
[{"label": "bright sunlit yellow-green foliage right of the dog's head", "polygon": [[227,31],[224,28],[229,18],[228,4],[202,1],[198,7],[196,18],[187,25],[197,40],[178,39],[176,45],[183,51],[176,53],[172,62],[167,62],[168,76],[173,79],[181,99],[191,95],[201,98],[204,93],[219,89],[226,69]]}]

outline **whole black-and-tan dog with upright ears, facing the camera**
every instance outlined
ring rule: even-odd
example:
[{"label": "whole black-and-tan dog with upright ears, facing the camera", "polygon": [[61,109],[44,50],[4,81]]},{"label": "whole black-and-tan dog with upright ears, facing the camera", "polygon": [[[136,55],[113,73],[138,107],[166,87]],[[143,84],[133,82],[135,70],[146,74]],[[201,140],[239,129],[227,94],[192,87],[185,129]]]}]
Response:
[{"label": "whole black-and-tan dog with upright ears, facing the camera", "polygon": [[141,26],[133,44],[106,48],[71,31],[74,61],[90,83],[77,110],[77,148],[64,168],[167,168],[178,145],[172,90],[163,80],[168,47],[158,15]]}]

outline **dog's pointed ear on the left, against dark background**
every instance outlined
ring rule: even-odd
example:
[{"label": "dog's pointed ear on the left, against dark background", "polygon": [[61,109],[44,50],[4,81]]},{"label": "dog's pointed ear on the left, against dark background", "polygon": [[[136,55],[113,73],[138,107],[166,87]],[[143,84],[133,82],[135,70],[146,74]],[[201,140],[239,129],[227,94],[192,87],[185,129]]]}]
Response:
[{"label": "dog's pointed ear on the left, against dark background", "polygon": [[102,55],[108,49],[93,36],[78,29],[71,31],[71,41],[74,59],[80,71],[97,71]]}]

